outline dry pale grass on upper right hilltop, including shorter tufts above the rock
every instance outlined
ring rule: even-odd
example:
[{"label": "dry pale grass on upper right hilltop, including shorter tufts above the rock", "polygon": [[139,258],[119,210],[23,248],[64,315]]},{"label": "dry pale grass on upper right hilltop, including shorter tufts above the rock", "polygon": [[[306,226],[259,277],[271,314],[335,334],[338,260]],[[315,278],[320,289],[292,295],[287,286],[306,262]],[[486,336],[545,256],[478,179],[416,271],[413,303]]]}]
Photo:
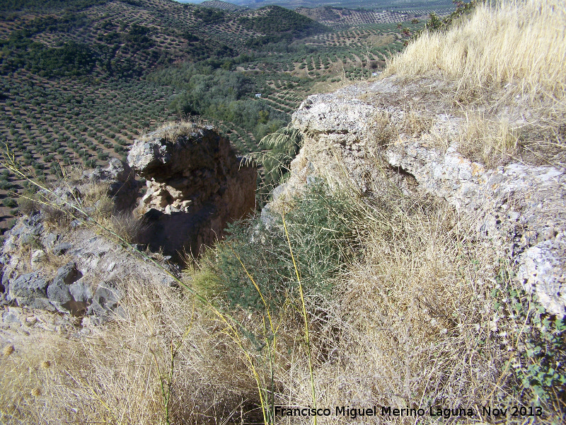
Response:
[{"label": "dry pale grass on upper right hilltop, including shorter tufts above the rock", "polygon": [[384,74],[445,81],[443,95],[466,119],[460,145],[470,157],[562,166],[565,20],[555,0],[483,4],[446,33],[423,33]]}]

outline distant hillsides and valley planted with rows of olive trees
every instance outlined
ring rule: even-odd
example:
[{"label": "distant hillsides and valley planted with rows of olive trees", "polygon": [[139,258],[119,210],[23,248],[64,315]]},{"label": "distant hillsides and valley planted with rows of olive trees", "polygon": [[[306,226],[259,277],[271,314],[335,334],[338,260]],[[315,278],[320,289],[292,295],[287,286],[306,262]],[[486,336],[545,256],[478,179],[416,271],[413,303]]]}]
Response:
[{"label": "distant hillsides and valley planted with rows of olive trees", "polygon": [[[124,159],[140,132],[186,115],[215,125],[240,154],[258,152],[307,94],[369,77],[405,37],[391,23],[328,32],[276,6],[2,2],[0,140],[47,180],[62,166]],[[0,232],[24,183],[0,172]]]}]

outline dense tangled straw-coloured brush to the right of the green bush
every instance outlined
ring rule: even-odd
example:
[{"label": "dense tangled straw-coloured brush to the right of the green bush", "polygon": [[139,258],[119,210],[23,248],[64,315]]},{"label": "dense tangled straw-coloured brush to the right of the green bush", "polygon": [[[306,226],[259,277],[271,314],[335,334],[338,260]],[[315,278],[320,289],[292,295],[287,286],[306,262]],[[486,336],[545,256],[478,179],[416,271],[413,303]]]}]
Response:
[{"label": "dense tangled straw-coloured brush to the right of the green bush", "polygon": [[[318,307],[327,318],[318,336],[320,404],[474,407],[509,358],[499,345],[478,346],[489,339],[492,319],[489,287],[478,280],[491,271],[494,253],[474,254],[458,228],[467,223],[446,205],[425,200],[416,212],[390,218],[388,231],[376,225],[369,233],[367,255],[337,284],[337,300]],[[305,376],[287,378],[299,381],[286,382],[298,389],[292,397],[306,399]]]}]

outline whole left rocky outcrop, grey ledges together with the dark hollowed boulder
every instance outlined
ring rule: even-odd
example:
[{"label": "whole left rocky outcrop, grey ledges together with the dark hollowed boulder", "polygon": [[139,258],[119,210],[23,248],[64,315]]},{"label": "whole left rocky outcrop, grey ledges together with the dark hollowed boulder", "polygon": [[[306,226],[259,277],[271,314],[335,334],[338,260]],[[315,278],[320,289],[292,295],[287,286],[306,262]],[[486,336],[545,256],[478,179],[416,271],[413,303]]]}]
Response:
[{"label": "whole left rocky outcrop, grey ledges together with the dark hollowed boulder", "polygon": [[[0,305],[6,307],[1,326],[25,322],[12,314],[22,307],[88,318],[91,324],[123,316],[125,280],[172,285],[178,267],[162,254],[183,249],[196,254],[221,236],[227,222],[253,210],[255,169],[240,166],[229,142],[210,128],[181,130],[166,128],[137,140],[129,154],[132,168],[112,159],[107,169],[85,171],[78,181],[40,193],[53,206],[21,217],[0,249]],[[125,249],[88,226],[89,215],[112,220],[134,207],[139,182],[132,169],[147,182],[137,212],[149,225],[141,238],[162,252],[146,251],[154,261],[137,253],[144,241]],[[76,220],[63,220],[64,210]]]}]

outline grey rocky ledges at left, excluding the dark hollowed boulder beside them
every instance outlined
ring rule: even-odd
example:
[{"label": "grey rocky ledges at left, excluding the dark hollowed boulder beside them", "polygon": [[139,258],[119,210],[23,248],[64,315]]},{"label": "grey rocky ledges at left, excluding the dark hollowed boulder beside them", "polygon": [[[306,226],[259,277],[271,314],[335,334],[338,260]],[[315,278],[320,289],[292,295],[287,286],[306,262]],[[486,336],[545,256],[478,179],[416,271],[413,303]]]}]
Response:
[{"label": "grey rocky ledges at left, excluding the dark hollowed boulder beside them", "polygon": [[[40,191],[41,203],[6,232],[0,248],[0,305],[86,315],[98,323],[123,313],[124,279],[173,283],[168,272],[175,268],[148,264],[86,225],[89,215],[108,219],[132,210],[138,193],[132,169],[117,159]],[[69,222],[65,211],[78,218]]]}]

